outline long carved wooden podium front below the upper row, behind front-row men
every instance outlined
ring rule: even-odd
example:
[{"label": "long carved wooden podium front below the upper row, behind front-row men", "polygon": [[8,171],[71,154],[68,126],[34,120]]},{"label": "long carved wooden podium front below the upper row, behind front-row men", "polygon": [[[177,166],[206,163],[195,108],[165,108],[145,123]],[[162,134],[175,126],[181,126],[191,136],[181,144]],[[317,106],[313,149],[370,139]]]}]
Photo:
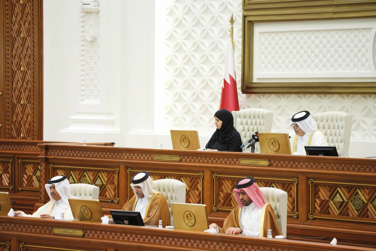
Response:
[{"label": "long carved wooden podium front below the upper row, behind front-row men", "polygon": [[102,204],[114,199],[105,212],[121,209],[133,196],[132,175],[148,171],[154,180],[183,181],[186,202],[206,204],[209,222],[222,225],[236,206],[235,183],[253,176],[258,186],[288,193],[288,236],[376,246],[374,159],[42,143],[0,141],[0,189],[15,209],[31,213],[45,204],[44,184],[62,174],[100,187]]}]

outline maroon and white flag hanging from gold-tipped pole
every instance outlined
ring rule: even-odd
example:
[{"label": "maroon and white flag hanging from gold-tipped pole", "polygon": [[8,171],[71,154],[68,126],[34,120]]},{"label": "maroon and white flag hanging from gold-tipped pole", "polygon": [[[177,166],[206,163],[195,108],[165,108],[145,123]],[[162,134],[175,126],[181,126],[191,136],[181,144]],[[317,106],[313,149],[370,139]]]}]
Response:
[{"label": "maroon and white flag hanging from gold-tipped pole", "polygon": [[226,65],[224,67],[223,85],[219,109],[230,112],[239,110],[238,88],[235,77],[235,61],[232,42],[227,45]]}]

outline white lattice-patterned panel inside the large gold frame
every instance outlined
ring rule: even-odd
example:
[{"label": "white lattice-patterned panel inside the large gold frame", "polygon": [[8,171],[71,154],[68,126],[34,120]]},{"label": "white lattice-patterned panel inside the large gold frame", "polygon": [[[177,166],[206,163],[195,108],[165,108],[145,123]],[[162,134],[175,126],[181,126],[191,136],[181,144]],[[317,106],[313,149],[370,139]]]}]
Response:
[{"label": "white lattice-patterned panel inside the large gold frame", "polygon": [[[331,25],[331,22],[326,23],[328,26]],[[267,78],[297,76],[324,78],[343,77],[344,74],[349,77],[359,77],[359,75],[369,76],[371,66],[374,69],[372,57],[369,56],[372,54],[371,27],[363,29],[338,29],[338,27],[327,29],[326,27],[326,30],[299,30],[299,28],[302,27],[278,32],[260,31],[259,41],[255,41],[259,45],[255,46],[259,54],[255,59],[255,66],[258,66],[259,74],[264,74]],[[357,73],[356,76],[353,73]]]}]

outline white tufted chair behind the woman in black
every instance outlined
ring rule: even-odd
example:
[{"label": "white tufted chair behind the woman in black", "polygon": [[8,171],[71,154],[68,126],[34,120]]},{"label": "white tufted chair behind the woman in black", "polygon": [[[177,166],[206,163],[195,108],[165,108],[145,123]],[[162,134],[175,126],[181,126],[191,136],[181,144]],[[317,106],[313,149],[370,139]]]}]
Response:
[{"label": "white tufted chair behind the woman in black", "polygon": [[[265,109],[249,108],[240,111],[233,111],[234,127],[240,133],[243,144],[254,132],[271,132],[273,123],[273,112]],[[246,148],[243,148],[246,151]],[[255,151],[260,152],[260,145],[256,143]]]}]

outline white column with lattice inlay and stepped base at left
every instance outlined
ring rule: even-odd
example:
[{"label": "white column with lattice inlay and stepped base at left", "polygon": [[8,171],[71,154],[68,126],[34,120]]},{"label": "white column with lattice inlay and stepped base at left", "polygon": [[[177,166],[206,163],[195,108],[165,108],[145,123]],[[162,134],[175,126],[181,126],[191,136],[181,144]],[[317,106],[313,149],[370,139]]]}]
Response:
[{"label": "white column with lattice inlay and stepped base at left", "polygon": [[120,22],[116,4],[119,1],[76,2],[80,77],[72,88],[71,124],[59,131],[60,141],[115,141],[120,133],[116,106],[120,97]]}]

